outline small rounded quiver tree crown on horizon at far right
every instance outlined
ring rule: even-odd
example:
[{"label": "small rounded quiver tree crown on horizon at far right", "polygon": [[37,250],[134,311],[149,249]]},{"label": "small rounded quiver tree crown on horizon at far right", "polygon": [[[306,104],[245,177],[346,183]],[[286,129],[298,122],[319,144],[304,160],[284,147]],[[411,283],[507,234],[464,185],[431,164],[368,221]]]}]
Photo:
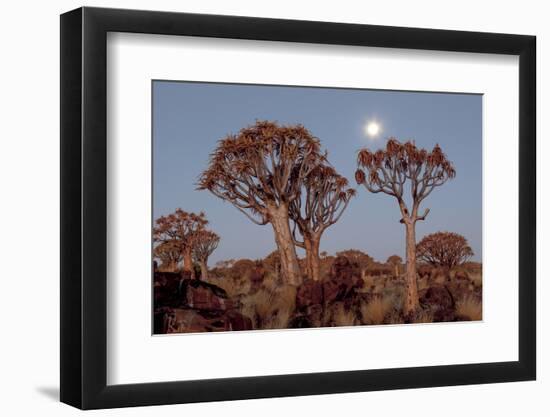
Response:
[{"label": "small rounded quiver tree crown on horizon at far right", "polygon": [[419,260],[434,266],[451,269],[462,265],[474,252],[462,235],[451,232],[437,232],[424,236],[416,245]]}]

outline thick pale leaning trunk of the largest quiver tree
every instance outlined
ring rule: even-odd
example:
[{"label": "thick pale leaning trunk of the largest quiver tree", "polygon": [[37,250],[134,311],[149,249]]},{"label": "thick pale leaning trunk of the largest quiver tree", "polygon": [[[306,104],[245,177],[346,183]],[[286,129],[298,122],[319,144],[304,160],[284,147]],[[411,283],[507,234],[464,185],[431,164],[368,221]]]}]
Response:
[{"label": "thick pale leaning trunk of the largest quiver tree", "polygon": [[279,205],[279,207],[271,206],[269,215],[275,234],[275,242],[281,257],[283,277],[288,284],[298,286],[302,283],[302,275],[290,231],[288,207],[284,204]]}]

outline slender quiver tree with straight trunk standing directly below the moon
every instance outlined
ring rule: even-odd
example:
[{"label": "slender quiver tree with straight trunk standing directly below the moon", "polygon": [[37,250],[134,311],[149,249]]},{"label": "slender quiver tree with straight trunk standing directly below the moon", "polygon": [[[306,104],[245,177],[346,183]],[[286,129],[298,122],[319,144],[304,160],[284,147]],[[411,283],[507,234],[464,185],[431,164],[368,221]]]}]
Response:
[{"label": "slender quiver tree with straight trunk standing directly below the moon", "polygon": [[[395,197],[401,212],[400,222],[406,230],[406,297],[404,311],[413,313],[418,309],[416,283],[416,237],[415,225],[425,220],[429,209],[419,214],[420,204],[434,188],[455,177],[455,169],[439,145],[433,150],[417,148],[414,142],[399,142],[388,139],[385,149],[372,152],[359,151],[355,179],[371,193],[385,193]],[[410,190],[410,197],[406,197]]]}]

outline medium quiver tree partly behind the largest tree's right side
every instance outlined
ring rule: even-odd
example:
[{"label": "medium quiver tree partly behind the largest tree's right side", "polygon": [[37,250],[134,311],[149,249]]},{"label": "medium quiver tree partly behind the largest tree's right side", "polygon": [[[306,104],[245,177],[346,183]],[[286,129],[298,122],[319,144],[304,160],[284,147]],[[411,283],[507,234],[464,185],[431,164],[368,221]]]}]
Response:
[{"label": "medium quiver tree partly behind the largest tree's right side", "polygon": [[[303,181],[299,198],[289,206],[294,243],[306,251],[306,275],[319,281],[319,244],[323,232],[336,223],[348,206],[355,190],[334,168],[319,164]],[[301,240],[296,231],[301,235]]]}]

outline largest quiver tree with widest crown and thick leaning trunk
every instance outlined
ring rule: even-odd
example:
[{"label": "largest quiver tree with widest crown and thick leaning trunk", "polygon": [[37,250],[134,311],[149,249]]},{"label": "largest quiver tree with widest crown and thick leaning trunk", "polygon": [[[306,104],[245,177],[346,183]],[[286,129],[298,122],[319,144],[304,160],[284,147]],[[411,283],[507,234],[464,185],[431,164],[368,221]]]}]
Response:
[{"label": "largest quiver tree with widest crown and thick leaning trunk", "polygon": [[302,282],[289,224],[289,205],[323,156],[301,125],[258,121],[218,142],[198,189],[229,201],[258,225],[271,224],[287,283]]}]

